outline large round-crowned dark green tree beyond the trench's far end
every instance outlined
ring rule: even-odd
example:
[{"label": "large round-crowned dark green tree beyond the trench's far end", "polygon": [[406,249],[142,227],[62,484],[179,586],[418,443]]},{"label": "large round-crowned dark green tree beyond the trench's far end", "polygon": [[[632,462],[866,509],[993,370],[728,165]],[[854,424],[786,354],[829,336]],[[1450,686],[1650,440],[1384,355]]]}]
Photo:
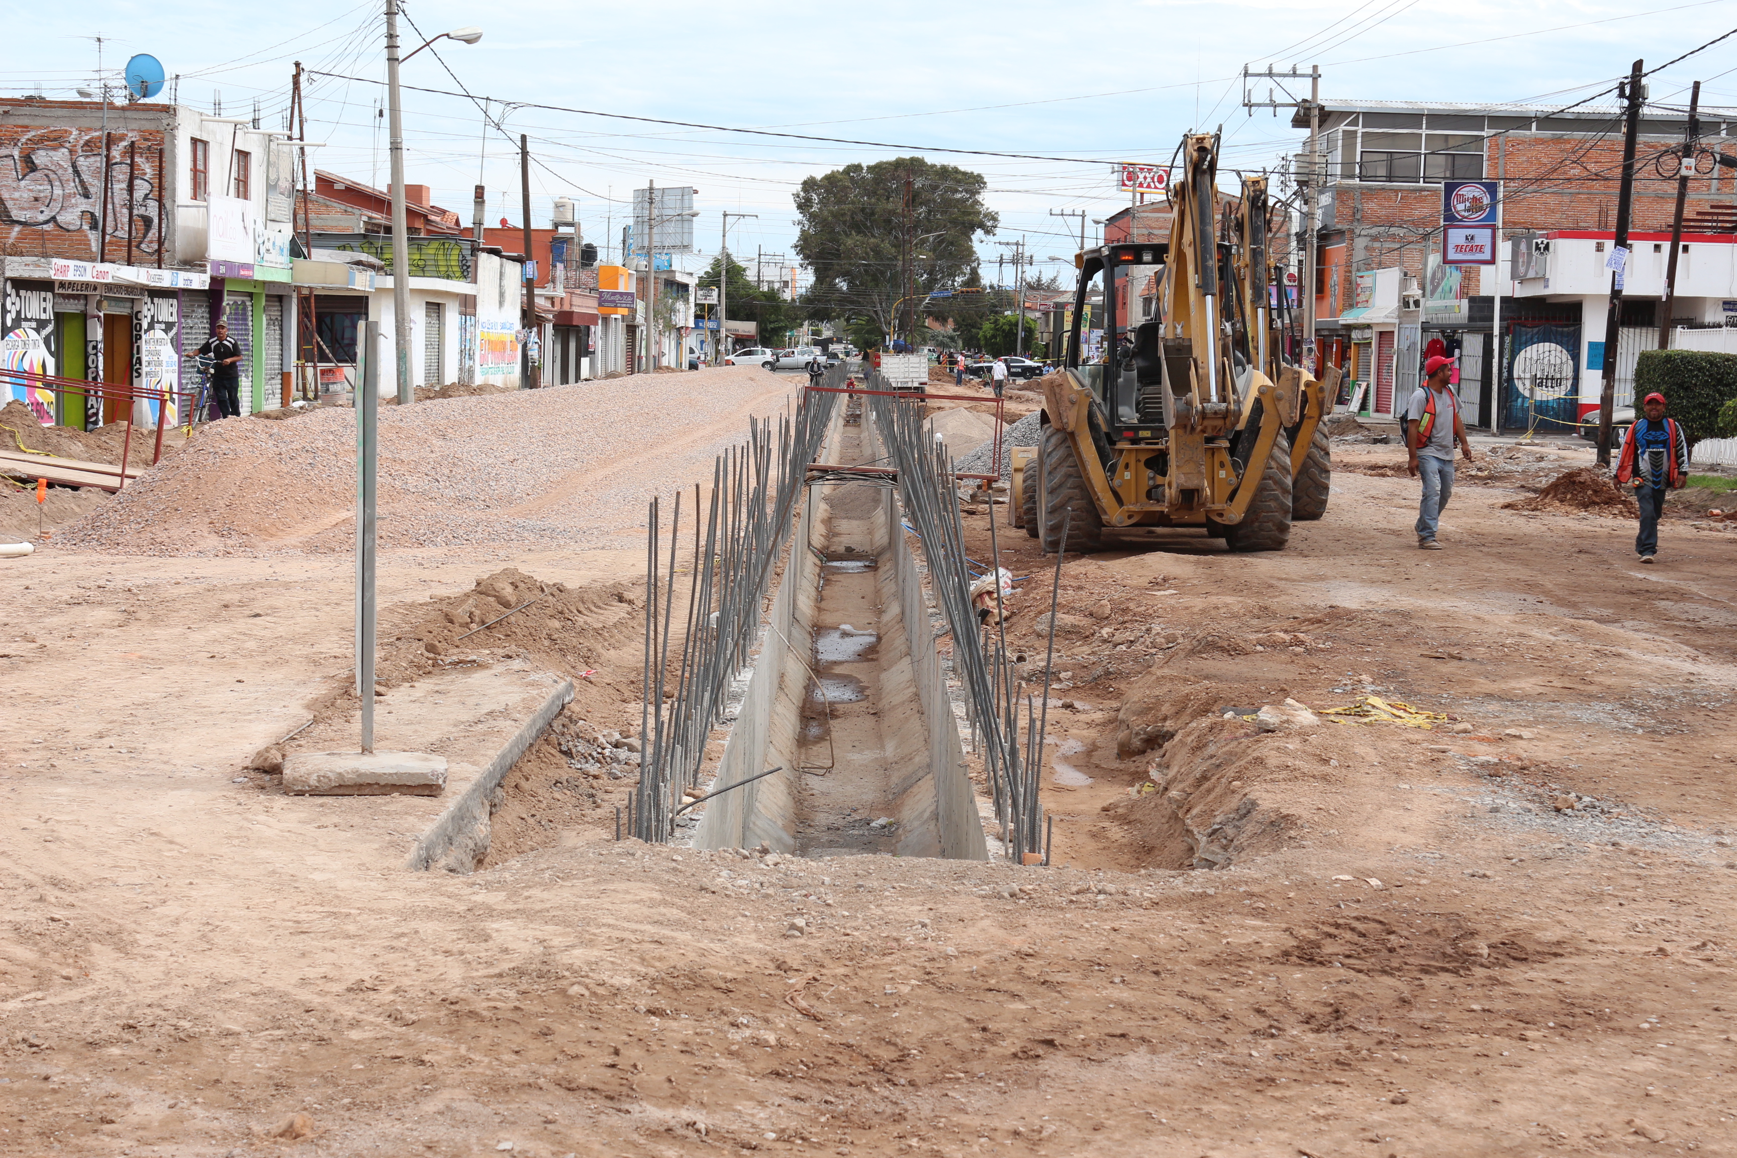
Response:
[{"label": "large round-crowned dark green tree beyond the trench's far end", "polygon": [[[987,181],[954,165],[902,156],[808,177],[796,193],[796,252],[815,273],[809,300],[846,319],[872,321],[875,342],[903,332],[924,295],[976,273],[976,234],[995,233]],[[914,300],[903,300],[907,297]]]}]

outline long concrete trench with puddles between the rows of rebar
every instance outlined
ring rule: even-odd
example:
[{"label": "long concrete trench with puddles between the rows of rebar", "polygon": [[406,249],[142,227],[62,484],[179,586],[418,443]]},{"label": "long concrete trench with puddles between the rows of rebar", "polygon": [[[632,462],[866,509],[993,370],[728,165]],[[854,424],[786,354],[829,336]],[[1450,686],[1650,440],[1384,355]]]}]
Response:
[{"label": "long concrete trench with puddles between the rows of rebar", "polygon": [[[874,458],[853,406],[822,460]],[[928,625],[895,491],[813,486],[712,786],[783,771],[709,802],[693,844],[987,859]]]}]

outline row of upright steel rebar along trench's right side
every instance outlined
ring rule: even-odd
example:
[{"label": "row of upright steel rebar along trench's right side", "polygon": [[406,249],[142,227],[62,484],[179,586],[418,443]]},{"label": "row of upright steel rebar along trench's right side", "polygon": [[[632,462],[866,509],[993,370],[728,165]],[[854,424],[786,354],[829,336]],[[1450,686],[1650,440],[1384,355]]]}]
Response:
[{"label": "row of upright steel rebar along trench's right side", "polygon": [[[870,391],[891,391],[874,370],[867,372]],[[1006,628],[997,606],[994,627],[985,627],[971,606],[971,561],[966,557],[964,528],[959,521],[952,467],[947,450],[924,429],[921,398],[865,394],[863,401],[884,462],[898,472],[898,497],[905,521],[922,540],[922,557],[929,568],[929,587],[954,639],[954,675],[966,694],[971,726],[980,738],[983,771],[995,802],[1007,858],[1016,865],[1032,863],[1044,852],[1044,809],[1037,797],[1042,769],[1044,724],[1047,722],[1047,674],[1044,705],[1034,705],[1018,679],[1007,651]],[[995,519],[990,517],[988,573],[1001,599],[999,547]],[[1023,734],[1021,734],[1023,733]],[[1030,856],[1028,856],[1030,854]]]}]

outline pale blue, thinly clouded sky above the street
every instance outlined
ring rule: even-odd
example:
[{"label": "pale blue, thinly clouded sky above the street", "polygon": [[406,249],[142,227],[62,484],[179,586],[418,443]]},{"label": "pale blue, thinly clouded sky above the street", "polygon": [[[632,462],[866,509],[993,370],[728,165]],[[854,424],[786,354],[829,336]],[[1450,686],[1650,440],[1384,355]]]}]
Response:
[{"label": "pale blue, thinly clouded sky above the street", "polygon": [[[280,128],[294,61],[302,61],[332,73],[307,78],[307,139],[327,142],[314,163],[384,188],[382,10],[380,0],[50,5],[31,14],[30,50],[9,54],[0,95],[71,99],[97,75],[94,36],[102,36],[101,63],[111,73],[149,52],[179,75],[182,104],[210,109],[221,101],[234,116],[257,101],[262,127]],[[1461,0],[1452,9],[1417,0],[1106,0],[1080,9],[1053,0],[410,0],[403,10],[406,52],[436,33],[483,30],[476,45],[441,40],[403,68],[406,182],[431,186],[434,201],[467,224],[478,181],[488,186],[488,224],[519,222],[516,146],[528,134],[535,226],[549,224],[554,198],[570,196],[585,238],[618,247],[632,188],[688,182],[698,189],[698,252],[677,264],[710,262],[723,212],[757,214],[731,219],[730,248],[749,264],[756,252],[778,255],[764,262],[771,276],[794,259],[790,198],[804,177],[922,155],[987,177],[987,200],[1001,215],[997,234],[978,245],[988,281],[1009,252],[1002,243],[1021,238],[1039,273],[1065,271],[1080,219],[1053,210],[1086,212],[1093,231],[1091,219],[1122,208],[1127,194],[1112,161],[1164,163],[1185,132],[1219,127],[1221,181],[1298,153],[1304,134],[1289,127],[1287,111],[1251,116],[1242,108],[1244,64],[1320,66],[1329,108],[1336,97],[1555,106],[1607,89],[1636,57],[1654,68],[1737,28],[1737,0]],[[1654,76],[1650,101],[1681,104],[1690,82],[1704,80],[1704,106],[1737,106],[1732,73],[1737,36]],[[415,87],[462,89],[478,101]]]}]

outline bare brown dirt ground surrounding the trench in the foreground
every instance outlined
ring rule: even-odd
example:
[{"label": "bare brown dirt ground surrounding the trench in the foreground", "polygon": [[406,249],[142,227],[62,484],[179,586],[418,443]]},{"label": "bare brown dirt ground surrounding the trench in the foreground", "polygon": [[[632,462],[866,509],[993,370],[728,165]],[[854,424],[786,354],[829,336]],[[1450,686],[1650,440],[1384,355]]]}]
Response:
[{"label": "bare brown dirt ground surrounding the trench in the foreground", "polygon": [[[634,641],[419,625],[504,566],[615,590],[625,545],[386,554],[387,642],[434,656],[391,743],[474,762],[594,668],[469,877],[401,868],[438,802],[245,771],[311,705],[342,738],[346,556],[21,561],[0,1153],[1732,1153],[1737,535],[1640,568],[1628,523],[1468,486],[1417,552],[1416,484],[1334,481],[1282,554],[1067,561],[1051,870],[610,840],[631,780],[558,781],[637,720]],[[1049,564],[997,542],[1037,672]],[[1452,719],[1244,719],[1364,696]]]}]

